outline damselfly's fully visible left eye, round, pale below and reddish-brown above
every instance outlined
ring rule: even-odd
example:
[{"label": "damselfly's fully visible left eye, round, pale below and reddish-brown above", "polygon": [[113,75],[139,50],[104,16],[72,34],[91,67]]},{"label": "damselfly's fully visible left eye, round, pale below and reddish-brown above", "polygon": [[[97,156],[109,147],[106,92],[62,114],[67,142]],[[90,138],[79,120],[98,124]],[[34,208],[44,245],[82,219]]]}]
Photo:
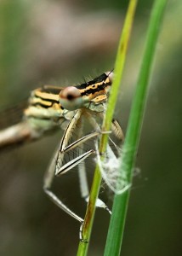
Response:
[{"label": "damselfly's fully visible left eye, round, pale below and reddish-brown above", "polygon": [[82,96],[80,90],[74,86],[68,86],[60,90],[60,105],[67,110],[76,110],[82,107]]}]

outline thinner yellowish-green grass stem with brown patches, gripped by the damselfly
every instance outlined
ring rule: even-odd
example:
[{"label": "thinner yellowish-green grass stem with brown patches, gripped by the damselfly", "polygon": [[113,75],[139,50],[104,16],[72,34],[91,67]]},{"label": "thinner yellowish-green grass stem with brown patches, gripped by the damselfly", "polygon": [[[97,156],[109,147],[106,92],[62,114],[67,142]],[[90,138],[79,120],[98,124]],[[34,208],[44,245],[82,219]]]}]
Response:
[{"label": "thinner yellowish-green grass stem with brown patches, gripped by the damselfly", "polygon": [[[129,6],[128,6],[128,12],[127,16],[124,22],[123,30],[122,30],[122,37],[120,39],[118,51],[117,51],[117,61],[115,66],[115,77],[114,81],[111,87],[111,95],[109,97],[109,102],[107,106],[107,110],[105,113],[105,119],[103,121],[102,130],[103,131],[110,131],[111,129],[111,121],[114,113],[114,109],[117,102],[117,95],[119,86],[122,79],[122,70],[126,58],[126,53],[128,49],[128,40],[130,37],[130,32],[134,20],[134,12],[136,7],[137,0],[130,0]],[[100,154],[101,154],[101,160],[103,159],[103,154],[106,149],[108,141],[108,135],[102,134],[100,138]],[[91,188],[89,201],[88,201],[88,207],[87,212],[84,218],[84,224],[82,227],[82,238],[85,241],[89,241],[91,230],[94,222],[94,212],[95,212],[95,203],[98,198],[99,192],[100,192],[100,183],[101,183],[101,174],[100,174],[100,167],[97,165],[95,172],[94,172],[94,181]],[[79,255],[87,255],[88,252],[88,242],[80,241],[77,256]]]}]

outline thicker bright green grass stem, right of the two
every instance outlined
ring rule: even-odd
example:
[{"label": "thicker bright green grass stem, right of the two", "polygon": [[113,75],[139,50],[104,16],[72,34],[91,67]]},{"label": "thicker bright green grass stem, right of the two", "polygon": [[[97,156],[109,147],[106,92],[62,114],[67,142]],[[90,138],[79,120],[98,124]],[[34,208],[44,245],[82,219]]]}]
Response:
[{"label": "thicker bright green grass stem, right of the two", "polygon": [[[145,111],[152,61],[154,59],[156,42],[166,3],[167,0],[156,0],[152,9],[145,44],[145,53],[143,55],[139,79],[134,94],[134,102],[128,121],[128,131],[123,145],[122,161],[120,165],[120,171],[122,173],[125,172],[128,176],[128,183],[132,183],[133,166],[139,145],[139,136]],[[105,256],[120,255],[129,193],[130,191],[127,190],[122,195],[115,195],[111,223],[105,246]]]}]

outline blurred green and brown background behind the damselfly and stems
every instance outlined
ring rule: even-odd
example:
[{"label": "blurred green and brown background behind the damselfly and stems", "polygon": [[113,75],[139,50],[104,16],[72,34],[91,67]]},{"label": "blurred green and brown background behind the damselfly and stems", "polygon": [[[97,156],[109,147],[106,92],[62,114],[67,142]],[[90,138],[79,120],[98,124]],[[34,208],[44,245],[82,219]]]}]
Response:
[{"label": "blurred green and brown background behind the damselfly and stems", "polygon": [[[116,117],[128,114],[153,1],[140,0]],[[41,84],[69,85],[111,70],[128,1],[2,0],[0,3],[1,129],[14,107]],[[122,256],[182,255],[182,2],[168,1],[128,207]],[[2,117],[1,117],[2,116]],[[43,193],[43,173],[60,141],[57,131],[0,154],[0,255],[72,256],[79,224]],[[93,177],[89,170],[88,177]],[[57,178],[54,190],[84,216],[77,170]],[[111,207],[111,193],[100,195]],[[96,212],[88,255],[103,255],[109,216]]]}]

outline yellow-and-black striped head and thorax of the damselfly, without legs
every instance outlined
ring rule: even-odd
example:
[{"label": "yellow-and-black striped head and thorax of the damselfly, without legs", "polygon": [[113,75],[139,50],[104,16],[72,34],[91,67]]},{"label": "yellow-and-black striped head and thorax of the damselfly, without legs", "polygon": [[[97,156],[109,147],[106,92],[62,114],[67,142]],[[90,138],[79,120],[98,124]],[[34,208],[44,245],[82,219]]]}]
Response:
[{"label": "yellow-and-black striped head and thorax of the damselfly, without legs", "polygon": [[56,121],[63,117],[65,110],[74,111],[77,108],[91,108],[92,110],[94,104],[94,107],[96,106],[94,111],[97,111],[100,103],[103,104],[107,100],[110,87],[111,76],[108,73],[103,73],[96,79],[76,86],[62,88],[44,85],[31,92],[25,115],[30,118]]}]

